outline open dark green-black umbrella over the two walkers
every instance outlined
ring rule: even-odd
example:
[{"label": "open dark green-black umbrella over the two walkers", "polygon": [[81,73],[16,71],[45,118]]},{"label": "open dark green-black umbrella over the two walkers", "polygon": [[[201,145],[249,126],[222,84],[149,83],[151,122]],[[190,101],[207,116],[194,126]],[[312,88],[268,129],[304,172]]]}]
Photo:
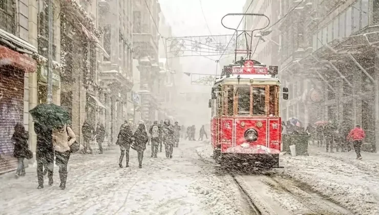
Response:
[{"label": "open dark green-black umbrella over the two walkers", "polygon": [[48,127],[57,127],[62,124],[70,124],[70,114],[56,104],[38,104],[29,111],[33,119]]}]

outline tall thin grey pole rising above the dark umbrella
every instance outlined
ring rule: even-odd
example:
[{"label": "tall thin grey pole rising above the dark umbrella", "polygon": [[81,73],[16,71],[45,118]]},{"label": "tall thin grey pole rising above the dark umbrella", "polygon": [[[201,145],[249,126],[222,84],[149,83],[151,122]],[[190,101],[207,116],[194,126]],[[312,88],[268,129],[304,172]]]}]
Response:
[{"label": "tall thin grey pole rising above the dark umbrella", "polygon": [[47,103],[53,102],[53,0],[48,4],[49,41],[48,41],[48,77],[47,77]]}]

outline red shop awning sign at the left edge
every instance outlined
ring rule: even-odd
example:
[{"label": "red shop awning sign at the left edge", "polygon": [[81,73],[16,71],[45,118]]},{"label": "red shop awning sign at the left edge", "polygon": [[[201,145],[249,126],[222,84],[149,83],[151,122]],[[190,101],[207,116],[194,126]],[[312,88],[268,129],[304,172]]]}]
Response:
[{"label": "red shop awning sign at the left edge", "polygon": [[37,62],[34,59],[4,46],[0,46],[0,62],[15,65],[26,72],[35,72],[37,70]]}]

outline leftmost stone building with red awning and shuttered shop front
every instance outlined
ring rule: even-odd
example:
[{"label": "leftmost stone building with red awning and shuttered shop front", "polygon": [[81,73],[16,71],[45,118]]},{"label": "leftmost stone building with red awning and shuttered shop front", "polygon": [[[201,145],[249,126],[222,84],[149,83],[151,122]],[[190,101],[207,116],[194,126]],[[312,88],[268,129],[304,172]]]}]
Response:
[{"label": "leftmost stone building with red awning and shuttered shop front", "polygon": [[[0,174],[14,170],[10,141],[16,123],[30,131],[29,110],[37,92],[37,14],[35,1],[0,2]],[[32,134],[30,134],[32,138]],[[30,145],[32,148],[32,145]]]}]

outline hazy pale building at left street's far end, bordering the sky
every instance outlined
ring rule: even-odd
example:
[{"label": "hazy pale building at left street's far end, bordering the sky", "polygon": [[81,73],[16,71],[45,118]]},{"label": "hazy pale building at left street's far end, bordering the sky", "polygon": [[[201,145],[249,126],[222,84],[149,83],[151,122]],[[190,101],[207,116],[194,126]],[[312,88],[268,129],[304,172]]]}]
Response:
[{"label": "hazy pale building at left street's far end, bordering the sky", "polygon": [[158,111],[160,5],[157,0],[134,0],[133,5],[133,58],[138,60],[138,93],[141,98],[141,119],[153,121]]}]

